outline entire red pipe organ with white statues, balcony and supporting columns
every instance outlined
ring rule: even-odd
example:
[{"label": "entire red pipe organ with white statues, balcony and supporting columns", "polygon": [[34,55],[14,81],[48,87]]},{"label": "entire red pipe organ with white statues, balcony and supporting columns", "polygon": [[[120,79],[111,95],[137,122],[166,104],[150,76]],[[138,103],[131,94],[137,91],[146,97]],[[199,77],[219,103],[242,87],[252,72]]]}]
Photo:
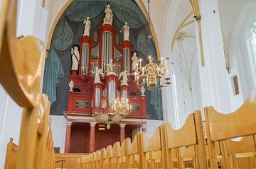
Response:
[{"label": "entire red pipe organ with white statues, balcony and supporting columns", "polygon": [[[92,23],[85,18],[80,44],[71,50],[65,153],[90,153],[132,138],[134,129],[146,132],[146,98],[134,81],[139,59],[129,41],[129,25],[114,28],[112,21],[107,5],[100,38],[92,45]],[[117,47],[114,35],[119,30],[124,38]]]}]

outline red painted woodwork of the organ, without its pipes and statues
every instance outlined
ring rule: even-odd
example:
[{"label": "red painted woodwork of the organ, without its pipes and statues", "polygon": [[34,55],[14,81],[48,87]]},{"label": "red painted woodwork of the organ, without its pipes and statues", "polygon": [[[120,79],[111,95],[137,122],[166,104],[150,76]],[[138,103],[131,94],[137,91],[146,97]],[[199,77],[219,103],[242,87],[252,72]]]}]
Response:
[{"label": "red painted woodwork of the organ, without its pipes and statues", "polygon": [[[82,45],[88,44],[89,47],[89,65],[88,71],[91,70],[91,64],[97,62],[98,67],[101,68],[101,58],[102,58],[102,34],[105,32],[112,33],[112,59],[114,64],[121,66],[123,71],[123,60],[115,60],[114,57],[114,34],[117,31],[112,25],[102,25],[99,28],[100,40],[97,42],[99,45],[99,56],[98,59],[92,59],[92,48],[97,47],[95,45],[92,47],[92,40],[90,37],[84,36],[80,38],[80,66],[82,61]],[[130,49],[130,74],[132,74],[132,43],[129,41],[124,41],[121,43],[121,53],[125,48]],[[116,141],[123,141],[125,138],[132,138],[132,129],[136,127],[141,127],[142,124],[146,124],[142,119],[146,119],[146,98],[142,96],[139,88],[132,80],[132,76],[129,76],[128,86],[121,85],[120,81],[117,81],[118,75],[115,74],[105,74],[101,78],[102,83],[94,83],[94,76],[90,73],[82,75],[81,67],[79,66],[78,74],[72,71],[69,79],[73,80],[74,88],[73,91],[68,92],[68,110],[64,112],[65,117],[68,121],[73,122],[71,125],[67,125],[66,138],[65,138],[65,152],[66,153],[89,153],[96,151],[102,147],[106,147],[110,144],[114,144]],[[102,101],[106,101],[106,109],[108,109],[108,87],[109,82],[114,81],[116,86],[115,95],[117,97],[117,92],[120,93],[122,97],[122,91],[127,91],[127,98],[129,100],[129,105],[134,105],[134,108],[129,115],[129,119],[125,119],[122,123],[127,124],[124,128],[120,127],[119,124],[112,124],[111,129],[105,129],[100,131],[95,127],[90,126],[90,122],[95,122],[91,118],[93,111],[102,111]],[[67,84],[68,85],[68,84]],[[100,107],[95,109],[95,91],[96,88],[100,88]],[[103,92],[106,91],[105,95]],[[135,109],[136,108],[136,109]],[[137,120],[139,119],[139,120]]]}]

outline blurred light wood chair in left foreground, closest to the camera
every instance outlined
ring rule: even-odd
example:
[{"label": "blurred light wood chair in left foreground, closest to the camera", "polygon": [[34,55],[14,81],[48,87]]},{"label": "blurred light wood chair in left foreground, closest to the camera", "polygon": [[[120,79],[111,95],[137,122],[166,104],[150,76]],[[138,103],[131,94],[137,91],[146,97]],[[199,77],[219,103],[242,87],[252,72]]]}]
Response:
[{"label": "blurred light wood chair in left foreground, closest to the camera", "polygon": [[[41,81],[46,47],[41,40],[35,37],[24,37],[19,40],[16,38],[16,0],[4,0],[2,9],[1,14],[3,13],[3,15],[0,16],[0,83],[11,98],[23,107],[16,168],[42,168],[36,153],[41,157],[46,153],[46,147],[42,145],[46,142],[47,120],[43,120],[46,117],[40,114]],[[42,120],[40,124],[38,124],[38,120]],[[53,150],[48,152],[52,153]],[[51,161],[43,160],[43,162],[47,162],[47,165],[51,163],[47,168],[53,168],[53,158],[54,156],[50,156],[49,160]]]}]

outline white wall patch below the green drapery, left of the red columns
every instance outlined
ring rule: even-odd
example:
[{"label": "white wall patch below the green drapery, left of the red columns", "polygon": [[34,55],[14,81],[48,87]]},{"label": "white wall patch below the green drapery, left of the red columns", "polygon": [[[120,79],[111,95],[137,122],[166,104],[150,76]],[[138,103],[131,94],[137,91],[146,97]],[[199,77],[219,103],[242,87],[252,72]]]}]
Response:
[{"label": "white wall patch below the green drapery, left of the red columns", "polygon": [[65,132],[67,120],[63,116],[51,115],[51,129],[53,131],[53,144],[60,147],[60,153],[64,153],[65,149]]}]

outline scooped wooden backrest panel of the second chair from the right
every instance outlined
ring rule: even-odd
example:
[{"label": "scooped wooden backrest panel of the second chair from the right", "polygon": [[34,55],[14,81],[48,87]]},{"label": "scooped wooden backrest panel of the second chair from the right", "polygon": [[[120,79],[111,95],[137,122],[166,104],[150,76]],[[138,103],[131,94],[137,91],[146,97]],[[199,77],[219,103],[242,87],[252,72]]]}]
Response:
[{"label": "scooped wooden backrest panel of the second chair from the right", "polygon": [[181,127],[181,129],[175,130],[171,128],[171,124],[165,125],[168,148],[190,146],[197,143],[196,127],[193,114],[188,116],[188,120],[183,127]]}]

